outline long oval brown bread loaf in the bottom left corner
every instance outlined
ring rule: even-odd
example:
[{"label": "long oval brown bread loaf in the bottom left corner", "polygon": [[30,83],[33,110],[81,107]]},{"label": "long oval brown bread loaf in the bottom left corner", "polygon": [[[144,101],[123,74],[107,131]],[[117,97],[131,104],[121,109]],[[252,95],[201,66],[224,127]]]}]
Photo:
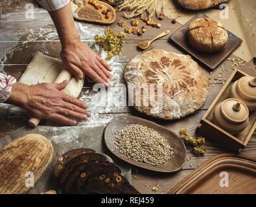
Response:
[{"label": "long oval brown bread loaf in the bottom left corner", "polygon": [[51,142],[39,134],[21,136],[3,147],[0,150],[0,194],[29,191],[31,186],[26,186],[27,179],[34,176],[36,183],[50,164],[52,154]]}]

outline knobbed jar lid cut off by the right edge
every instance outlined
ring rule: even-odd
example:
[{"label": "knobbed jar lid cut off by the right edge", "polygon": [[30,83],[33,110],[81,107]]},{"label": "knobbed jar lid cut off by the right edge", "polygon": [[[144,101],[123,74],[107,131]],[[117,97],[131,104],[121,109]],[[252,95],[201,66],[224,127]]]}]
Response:
[{"label": "knobbed jar lid cut off by the right edge", "polygon": [[246,100],[256,101],[256,78],[244,76],[237,83],[237,92]]}]

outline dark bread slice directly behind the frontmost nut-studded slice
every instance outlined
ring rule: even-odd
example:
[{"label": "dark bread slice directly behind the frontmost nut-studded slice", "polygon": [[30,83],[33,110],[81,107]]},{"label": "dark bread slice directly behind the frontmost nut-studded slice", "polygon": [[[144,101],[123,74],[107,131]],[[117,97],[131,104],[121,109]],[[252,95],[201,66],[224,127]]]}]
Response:
[{"label": "dark bread slice directly behind the frontmost nut-studded slice", "polygon": [[[90,168],[87,168],[86,171],[82,171],[78,177],[76,177],[75,180],[75,187],[78,193],[82,193],[84,191],[84,186],[86,186],[87,179],[90,177],[90,175],[94,173],[121,173],[121,169],[119,169],[115,164],[109,163],[109,162],[101,162],[95,166],[91,166]],[[84,174],[85,173],[85,174]]]}]

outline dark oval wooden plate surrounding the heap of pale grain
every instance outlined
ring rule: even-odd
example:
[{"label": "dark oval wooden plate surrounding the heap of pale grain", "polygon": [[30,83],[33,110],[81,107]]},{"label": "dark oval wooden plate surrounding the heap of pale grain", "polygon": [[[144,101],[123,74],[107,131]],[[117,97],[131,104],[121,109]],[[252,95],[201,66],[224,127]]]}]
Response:
[{"label": "dark oval wooden plate surrounding the heap of pale grain", "polygon": [[[126,157],[125,155],[122,155],[121,153],[119,153],[119,151],[115,149],[116,145],[114,144],[114,142],[116,142],[115,132],[120,131],[121,129],[124,129],[126,125],[130,125],[130,124],[145,125],[147,127],[150,127],[156,130],[160,135],[167,138],[170,145],[173,147],[175,158],[170,158],[169,161],[165,162],[161,166],[152,166],[150,164],[136,162]],[[141,168],[170,173],[170,172],[178,171],[185,164],[186,148],[182,140],[178,138],[178,136],[172,131],[165,129],[165,127],[162,127],[161,125],[155,124],[154,122],[150,122],[143,118],[138,118],[136,116],[118,116],[117,118],[114,118],[107,125],[104,131],[104,139],[105,139],[106,146],[108,147],[108,149],[110,149],[111,153],[121,158],[122,160]]]}]

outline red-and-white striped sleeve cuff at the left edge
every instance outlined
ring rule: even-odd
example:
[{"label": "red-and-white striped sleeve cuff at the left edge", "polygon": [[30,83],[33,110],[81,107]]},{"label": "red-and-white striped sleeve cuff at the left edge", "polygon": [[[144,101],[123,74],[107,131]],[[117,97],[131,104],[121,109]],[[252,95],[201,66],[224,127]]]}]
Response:
[{"label": "red-and-white striped sleeve cuff at the left edge", "polygon": [[14,77],[0,73],[0,103],[5,102],[9,98],[14,83],[16,83]]}]

